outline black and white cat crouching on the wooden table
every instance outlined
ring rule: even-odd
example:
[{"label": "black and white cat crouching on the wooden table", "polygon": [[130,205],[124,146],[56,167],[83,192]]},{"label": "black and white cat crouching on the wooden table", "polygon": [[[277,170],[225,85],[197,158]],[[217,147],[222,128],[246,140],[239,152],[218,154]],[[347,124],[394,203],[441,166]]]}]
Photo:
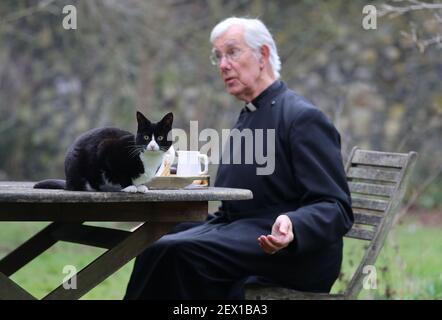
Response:
[{"label": "black and white cat crouching on the wooden table", "polygon": [[168,157],[173,162],[175,150],[167,139],[173,114],[170,112],[158,123],[151,123],[137,112],[137,121],[135,136],[117,128],[83,133],[66,153],[66,181],[43,180],[34,188],[146,193],[148,188],[144,184],[163,167],[163,159]]}]

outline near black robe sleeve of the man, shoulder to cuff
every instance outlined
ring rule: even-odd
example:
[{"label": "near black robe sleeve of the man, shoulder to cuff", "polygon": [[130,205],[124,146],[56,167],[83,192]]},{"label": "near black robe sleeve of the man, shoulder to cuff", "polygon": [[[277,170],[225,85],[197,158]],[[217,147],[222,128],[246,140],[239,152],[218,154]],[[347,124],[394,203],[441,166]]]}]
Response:
[{"label": "near black robe sleeve of the man, shoulder to cuff", "polygon": [[351,198],[338,131],[318,109],[305,109],[291,124],[290,153],[301,206],[286,213],[298,253],[339,240],[353,224]]}]

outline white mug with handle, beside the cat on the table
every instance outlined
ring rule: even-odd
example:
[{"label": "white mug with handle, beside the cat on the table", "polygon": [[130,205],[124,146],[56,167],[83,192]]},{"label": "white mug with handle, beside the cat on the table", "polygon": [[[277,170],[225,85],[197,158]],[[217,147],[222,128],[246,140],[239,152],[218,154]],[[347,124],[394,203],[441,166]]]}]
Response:
[{"label": "white mug with handle, beside the cat on the table", "polygon": [[[178,164],[176,175],[181,177],[200,176],[209,172],[209,158],[198,151],[177,151]],[[204,170],[201,170],[201,160]]]}]

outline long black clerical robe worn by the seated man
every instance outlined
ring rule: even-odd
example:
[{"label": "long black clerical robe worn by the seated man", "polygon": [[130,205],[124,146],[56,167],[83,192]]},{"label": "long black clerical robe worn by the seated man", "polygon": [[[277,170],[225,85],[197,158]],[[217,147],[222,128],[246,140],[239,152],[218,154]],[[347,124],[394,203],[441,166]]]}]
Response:
[{"label": "long black clerical robe worn by the seated man", "polygon": [[[179,225],[159,239],[136,259],[126,299],[241,299],[248,283],[331,289],[353,223],[339,133],[281,81],[249,103],[234,128],[263,134],[252,135],[252,148],[231,144],[215,186],[250,189],[253,199],[223,201],[206,222]],[[252,161],[245,152],[253,152]],[[271,233],[280,214],[290,217],[295,239],[269,255],[257,238]]]}]

